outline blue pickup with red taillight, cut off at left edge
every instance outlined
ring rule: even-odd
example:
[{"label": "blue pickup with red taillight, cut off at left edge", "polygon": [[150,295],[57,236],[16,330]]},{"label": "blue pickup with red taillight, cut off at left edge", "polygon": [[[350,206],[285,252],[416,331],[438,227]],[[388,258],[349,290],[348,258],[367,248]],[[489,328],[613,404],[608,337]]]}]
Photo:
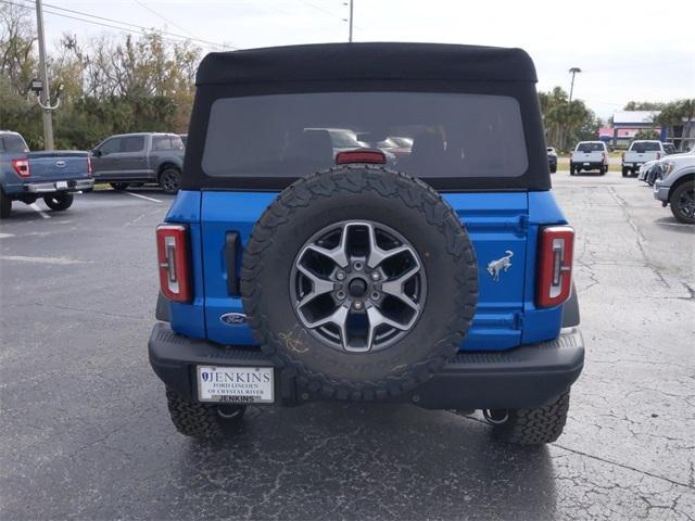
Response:
[{"label": "blue pickup with red taillight, cut off at left edge", "polygon": [[70,208],[73,193],[93,187],[88,152],[29,152],[17,132],[0,130],[0,217],[12,203],[34,204],[39,198],[53,211]]}]

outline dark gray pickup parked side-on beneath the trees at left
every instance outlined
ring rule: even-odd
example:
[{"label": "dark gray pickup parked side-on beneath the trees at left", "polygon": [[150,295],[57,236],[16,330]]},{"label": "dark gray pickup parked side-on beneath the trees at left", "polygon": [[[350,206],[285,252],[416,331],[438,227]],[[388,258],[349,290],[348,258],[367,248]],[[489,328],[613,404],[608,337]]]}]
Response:
[{"label": "dark gray pickup parked side-on beneath the trees at left", "polygon": [[176,193],[182,165],[184,142],[176,134],[122,134],[92,150],[96,182],[109,182],[115,190],[152,182]]}]

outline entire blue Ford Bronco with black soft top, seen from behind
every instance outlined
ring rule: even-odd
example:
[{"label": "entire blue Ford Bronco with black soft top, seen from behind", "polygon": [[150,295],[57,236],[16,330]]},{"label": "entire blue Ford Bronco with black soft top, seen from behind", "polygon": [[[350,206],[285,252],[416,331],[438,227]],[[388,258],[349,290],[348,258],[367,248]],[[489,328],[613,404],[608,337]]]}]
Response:
[{"label": "entire blue Ford Bronco with black soft top, seen from behind", "polygon": [[[178,431],[349,401],[481,409],[503,441],[555,441],[584,347],[535,81],[519,49],[208,54],[156,231],[149,356]],[[358,147],[317,131],[336,128]],[[409,150],[387,166],[392,137]]]}]

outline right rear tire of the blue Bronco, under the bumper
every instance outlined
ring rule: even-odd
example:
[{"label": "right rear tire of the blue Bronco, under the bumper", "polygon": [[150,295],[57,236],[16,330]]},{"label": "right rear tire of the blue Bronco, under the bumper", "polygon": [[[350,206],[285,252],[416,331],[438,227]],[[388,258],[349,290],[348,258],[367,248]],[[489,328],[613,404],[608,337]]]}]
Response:
[{"label": "right rear tire of the blue Bronco, under the bumper", "polygon": [[556,441],[567,422],[569,391],[551,404],[533,409],[485,411],[495,437],[515,445],[542,445]]}]

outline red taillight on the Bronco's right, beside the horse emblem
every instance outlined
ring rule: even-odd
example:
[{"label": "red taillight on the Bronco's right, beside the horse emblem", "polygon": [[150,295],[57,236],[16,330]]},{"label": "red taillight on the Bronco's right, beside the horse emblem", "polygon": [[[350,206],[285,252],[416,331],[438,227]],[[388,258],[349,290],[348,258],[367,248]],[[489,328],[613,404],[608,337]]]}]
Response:
[{"label": "red taillight on the Bronco's right, beside the horse emblem", "polygon": [[574,229],[548,226],[541,229],[539,249],[538,307],[554,307],[569,298],[572,291]]}]

